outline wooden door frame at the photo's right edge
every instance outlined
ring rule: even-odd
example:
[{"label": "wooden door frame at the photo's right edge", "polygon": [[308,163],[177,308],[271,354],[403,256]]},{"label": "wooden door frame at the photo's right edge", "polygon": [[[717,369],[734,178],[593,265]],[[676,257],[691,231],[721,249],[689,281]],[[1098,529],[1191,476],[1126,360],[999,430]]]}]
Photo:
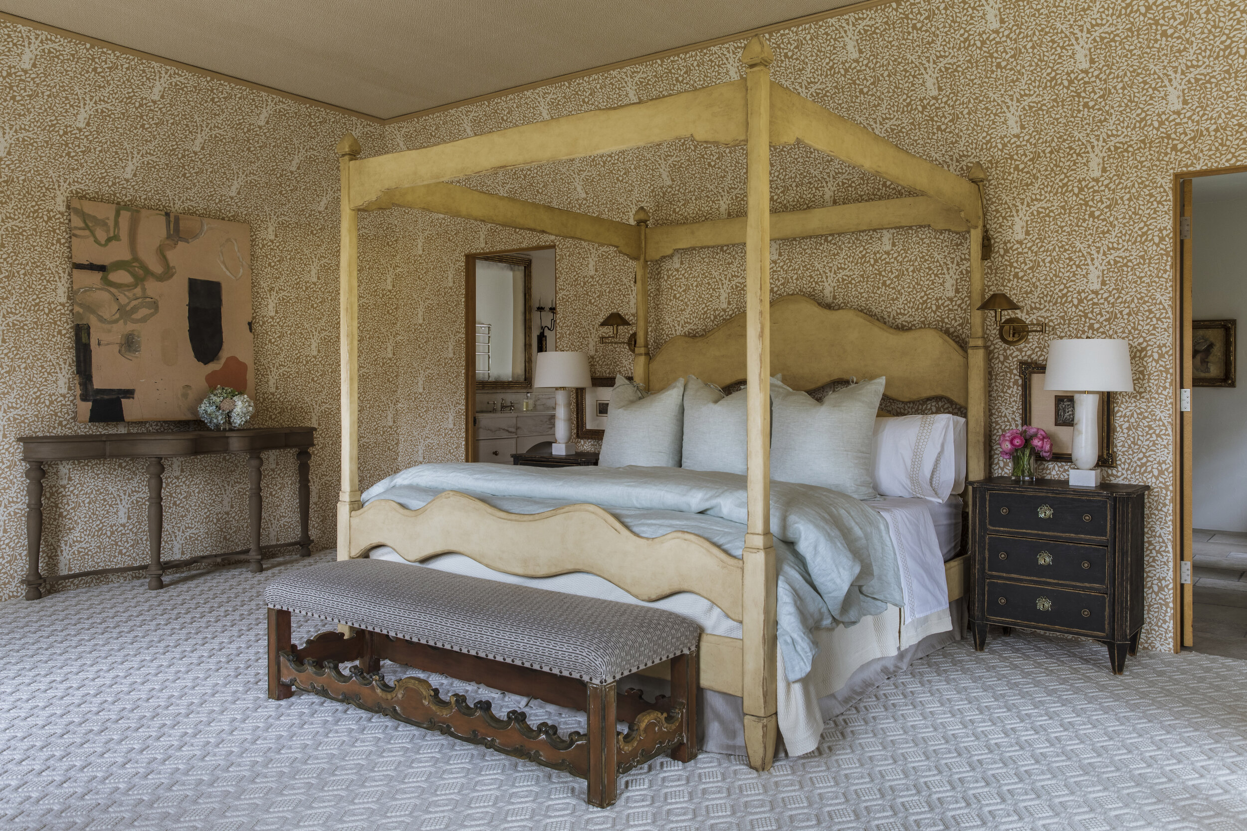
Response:
[{"label": "wooden door frame at the photo's right edge", "polygon": [[[1195,541],[1192,528],[1195,510],[1191,496],[1193,478],[1192,412],[1182,412],[1182,390],[1191,387],[1191,303],[1192,269],[1186,262],[1192,253],[1191,244],[1183,244],[1182,217],[1191,216],[1190,202],[1183,199],[1185,189],[1191,179],[1205,176],[1223,176],[1226,173],[1247,173],[1247,164],[1233,167],[1213,167],[1202,171],[1182,171],[1173,174],[1173,386],[1172,386],[1172,424],[1173,424],[1173,652],[1181,652],[1183,645],[1192,645],[1195,632],[1192,627],[1192,588],[1182,583],[1182,563],[1193,556]],[[1195,237],[1192,221],[1192,240]],[[1193,569],[1193,564],[1192,564]]]}]

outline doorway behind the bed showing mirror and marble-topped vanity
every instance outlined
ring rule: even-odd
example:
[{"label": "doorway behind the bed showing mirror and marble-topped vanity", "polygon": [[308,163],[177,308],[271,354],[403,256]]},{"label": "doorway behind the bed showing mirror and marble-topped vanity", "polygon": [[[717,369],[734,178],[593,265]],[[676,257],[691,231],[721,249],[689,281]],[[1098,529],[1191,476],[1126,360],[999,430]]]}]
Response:
[{"label": "doorway behind the bed showing mirror and marble-topped vanity", "polygon": [[554,441],[554,394],[532,375],[537,353],[555,349],[555,249],[468,254],[465,278],[464,460],[510,465]]}]

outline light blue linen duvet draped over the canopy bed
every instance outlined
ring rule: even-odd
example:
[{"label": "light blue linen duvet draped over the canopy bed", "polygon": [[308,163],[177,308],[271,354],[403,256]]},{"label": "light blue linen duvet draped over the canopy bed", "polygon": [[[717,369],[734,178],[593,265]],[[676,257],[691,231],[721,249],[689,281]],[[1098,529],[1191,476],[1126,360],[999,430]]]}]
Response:
[{"label": "light blue linen duvet draped over the canopy bed", "polygon": [[[509,513],[599,505],[633,533],[690,531],[733,557],[744,543],[746,483],[739,473],[681,467],[520,467],[419,465],[382,480],[363,501],[419,508],[461,491]],[[813,630],[852,624],[903,605],[887,521],[868,505],[823,487],[771,483],[771,532],[778,566],[779,649],[789,681],[809,673]],[[592,544],[586,541],[586,544]]]}]

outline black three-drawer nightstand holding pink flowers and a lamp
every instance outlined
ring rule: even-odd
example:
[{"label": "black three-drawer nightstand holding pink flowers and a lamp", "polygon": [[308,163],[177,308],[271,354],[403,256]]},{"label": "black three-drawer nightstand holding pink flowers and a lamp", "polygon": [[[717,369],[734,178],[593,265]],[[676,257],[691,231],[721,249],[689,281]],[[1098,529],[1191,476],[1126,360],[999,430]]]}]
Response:
[{"label": "black three-drawer nightstand holding pink flowers and a lamp", "polygon": [[1008,476],[970,486],[975,650],[986,648],[990,623],[1062,632],[1106,644],[1120,675],[1143,625],[1150,486]]}]

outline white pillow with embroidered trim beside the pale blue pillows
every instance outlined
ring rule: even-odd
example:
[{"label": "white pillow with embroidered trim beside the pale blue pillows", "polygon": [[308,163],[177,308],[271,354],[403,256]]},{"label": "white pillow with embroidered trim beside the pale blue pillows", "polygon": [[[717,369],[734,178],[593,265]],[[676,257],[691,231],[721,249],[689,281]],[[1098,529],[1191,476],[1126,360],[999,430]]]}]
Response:
[{"label": "white pillow with embroidered trim beside the pale blue pillows", "polygon": [[874,490],[936,502],[965,487],[965,419],[920,415],[875,419]]}]

